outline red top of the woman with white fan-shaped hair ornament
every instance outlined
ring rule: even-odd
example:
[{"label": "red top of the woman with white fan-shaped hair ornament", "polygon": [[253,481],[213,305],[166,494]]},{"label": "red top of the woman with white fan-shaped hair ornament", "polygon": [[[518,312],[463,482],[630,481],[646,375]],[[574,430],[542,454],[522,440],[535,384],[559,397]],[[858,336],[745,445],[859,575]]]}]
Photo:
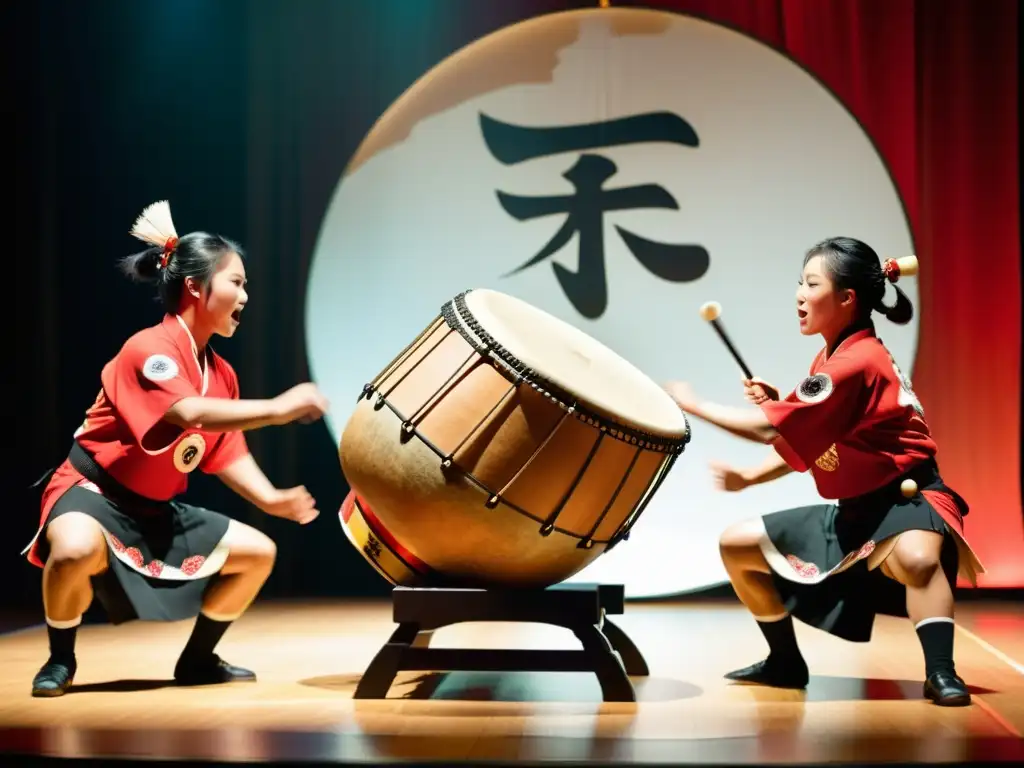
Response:
[{"label": "red top of the woman with white fan-shaped hair ornament", "polygon": [[[139,331],[103,367],[102,388],[75,439],[122,485],[158,501],[184,493],[188,473],[197,468],[214,474],[246,456],[241,431],[182,430],[163,421],[185,397],[238,399],[234,370],[209,346],[204,356],[205,368],[191,333],[176,315]],[[56,500],[83,479],[65,460],[43,492],[40,526]],[[42,564],[35,543],[29,560]]]}]

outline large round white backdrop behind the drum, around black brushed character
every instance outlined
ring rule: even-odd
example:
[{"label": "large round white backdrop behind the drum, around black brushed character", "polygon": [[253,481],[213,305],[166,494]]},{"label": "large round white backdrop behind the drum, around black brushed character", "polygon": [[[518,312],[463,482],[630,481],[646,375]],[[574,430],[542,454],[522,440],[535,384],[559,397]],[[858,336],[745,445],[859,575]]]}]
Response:
[{"label": "large round white backdrop behind the drum, around black brushed character", "polygon": [[[691,126],[696,145],[663,135],[502,162],[481,130],[488,119],[557,128],[658,113],[676,116],[676,128]],[[599,316],[575,308],[553,266],[578,270],[579,233],[515,271],[567,214],[518,220],[499,198],[572,196],[564,174],[584,155],[614,164],[605,190],[656,185],[676,204],[604,212],[607,303]],[[688,282],[665,280],[638,260],[621,229],[700,246],[708,269]],[[595,8],[506,28],[438,65],[380,118],[325,212],[306,338],[313,377],[332,401],[329,428],[338,439],[362,385],[467,288],[523,299],[656,382],[688,380],[703,395],[740,406],[739,368],[697,311],[716,300],[754,372],[787,392],[821,344],[797,325],[802,256],[834,236],[863,240],[883,257],[913,252],[901,201],[869,138],[781,53],[727,28],[652,10]],[[914,281],[901,287],[915,302]],[[895,327],[882,318],[879,332],[909,372],[916,319]],[[709,460],[758,464],[770,449],[700,422],[692,427],[692,441],[630,540],[573,581],[625,583],[631,597],[722,583],[723,528],[819,501],[808,475],[739,494],[716,490]]]}]

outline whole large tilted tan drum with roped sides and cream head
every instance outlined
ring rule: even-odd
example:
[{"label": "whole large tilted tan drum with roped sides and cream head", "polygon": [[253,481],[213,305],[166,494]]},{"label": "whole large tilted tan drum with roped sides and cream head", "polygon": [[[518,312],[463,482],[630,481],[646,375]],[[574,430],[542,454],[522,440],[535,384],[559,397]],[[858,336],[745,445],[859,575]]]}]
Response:
[{"label": "whole large tilted tan drum with roped sides and cream head", "polygon": [[628,535],[688,440],[671,397],[600,342],[471,291],[365,387],[340,516],[392,584],[547,587]]}]

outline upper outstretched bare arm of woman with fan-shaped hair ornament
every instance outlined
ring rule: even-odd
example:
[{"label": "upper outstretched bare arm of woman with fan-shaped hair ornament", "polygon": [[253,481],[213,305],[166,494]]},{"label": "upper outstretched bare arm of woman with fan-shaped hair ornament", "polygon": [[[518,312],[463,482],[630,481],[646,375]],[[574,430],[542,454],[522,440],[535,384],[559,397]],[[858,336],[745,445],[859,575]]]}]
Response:
[{"label": "upper outstretched bare arm of woman with fan-shaped hair ornament", "polygon": [[312,384],[299,384],[270,399],[237,400],[227,397],[185,397],[164,417],[181,427],[208,432],[236,432],[318,419],[327,400]]}]

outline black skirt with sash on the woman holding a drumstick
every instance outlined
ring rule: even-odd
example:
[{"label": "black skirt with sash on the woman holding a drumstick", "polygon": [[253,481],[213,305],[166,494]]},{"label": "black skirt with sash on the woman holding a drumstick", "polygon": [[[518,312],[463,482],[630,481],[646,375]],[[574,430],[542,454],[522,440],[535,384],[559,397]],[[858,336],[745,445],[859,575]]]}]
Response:
[{"label": "black skirt with sash on the woman holding a drumstick", "polygon": [[[904,498],[911,477],[918,493]],[[839,504],[816,504],[764,515],[761,550],[785,609],[794,617],[853,642],[871,637],[877,614],[906,616],[906,588],[879,567],[896,538],[907,530],[944,537],[941,566],[955,590],[962,544],[958,535],[922,490],[949,493],[934,464],[915,468],[888,485]]]}]

